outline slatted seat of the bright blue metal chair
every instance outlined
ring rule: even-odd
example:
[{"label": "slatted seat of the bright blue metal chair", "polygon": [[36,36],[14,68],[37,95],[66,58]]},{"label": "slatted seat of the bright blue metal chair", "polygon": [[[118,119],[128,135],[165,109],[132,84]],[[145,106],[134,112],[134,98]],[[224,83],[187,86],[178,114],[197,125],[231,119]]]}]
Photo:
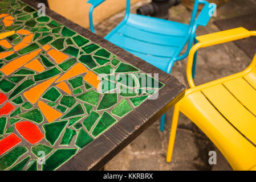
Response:
[{"label": "slatted seat of the bright blue metal chair", "polygon": [[130,14],[105,39],[166,71],[174,53],[188,41],[188,32],[187,24]]}]

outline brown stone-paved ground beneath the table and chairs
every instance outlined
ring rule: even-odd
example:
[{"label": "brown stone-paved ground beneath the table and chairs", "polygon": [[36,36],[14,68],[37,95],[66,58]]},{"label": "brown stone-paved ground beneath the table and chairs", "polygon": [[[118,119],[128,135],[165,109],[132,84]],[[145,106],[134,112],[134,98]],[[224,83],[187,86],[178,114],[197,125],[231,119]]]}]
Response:
[{"label": "brown stone-paved ground beneath the table and chairs", "polygon": [[[137,7],[150,1],[146,0],[132,6],[132,13]],[[231,0],[217,9],[208,26],[198,27],[197,35],[219,31],[213,24],[214,20],[226,19],[239,15],[255,13],[256,0]],[[183,5],[170,9],[170,20],[189,23],[190,13]],[[96,26],[96,32],[104,36],[123,18],[124,11],[104,20]],[[174,64],[172,75],[186,84],[186,59]],[[198,52],[196,85],[224,77],[245,69],[250,63],[235,44],[227,43],[220,46],[205,48]],[[165,162],[166,147],[169,139],[170,124],[173,109],[168,112],[165,131],[160,132],[160,120],[145,130],[129,146],[124,148],[107,165],[105,170],[231,170],[226,159],[214,144],[186,118],[180,114],[178,130],[174,145],[173,160]],[[217,152],[217,164],[208,164],[208,152]]]}]

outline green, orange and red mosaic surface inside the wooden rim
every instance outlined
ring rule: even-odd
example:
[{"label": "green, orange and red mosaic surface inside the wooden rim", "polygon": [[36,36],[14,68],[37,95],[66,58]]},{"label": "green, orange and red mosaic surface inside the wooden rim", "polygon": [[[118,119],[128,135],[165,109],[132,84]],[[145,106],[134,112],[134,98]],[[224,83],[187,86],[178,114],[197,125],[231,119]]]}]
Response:
[{"label": "green, orange and red mosaic surface inside the wooden rim", "polygon": [[0,21],[0,170],[58,169],[164,87],[24,2]]}]

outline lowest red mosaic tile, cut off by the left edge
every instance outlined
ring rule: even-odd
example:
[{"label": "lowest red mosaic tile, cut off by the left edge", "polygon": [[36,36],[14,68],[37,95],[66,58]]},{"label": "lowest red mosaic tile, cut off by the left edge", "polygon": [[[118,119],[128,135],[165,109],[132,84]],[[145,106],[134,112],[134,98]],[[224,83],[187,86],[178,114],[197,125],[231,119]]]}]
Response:
[{"label": "lowest red mosaic tile, cut off by the left edge", "polygon": [[17,135],[15,135],[14,133],[0,140],[0,155],[13,148],[19,142],[21,142],[21,139],[17,137]]}]

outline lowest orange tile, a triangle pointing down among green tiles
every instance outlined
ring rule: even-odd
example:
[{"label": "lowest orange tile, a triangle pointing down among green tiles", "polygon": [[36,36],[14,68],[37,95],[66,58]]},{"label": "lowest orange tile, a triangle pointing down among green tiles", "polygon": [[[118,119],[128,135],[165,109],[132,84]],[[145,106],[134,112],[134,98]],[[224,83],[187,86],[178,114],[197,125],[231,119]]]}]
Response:
[{"label": "lowest orange tile, a triangle pointing down among green tiles", "polygon": [[49,123],[62,116],[62,113],[56,111],[42,101],[38,101],[38,107]]}]

